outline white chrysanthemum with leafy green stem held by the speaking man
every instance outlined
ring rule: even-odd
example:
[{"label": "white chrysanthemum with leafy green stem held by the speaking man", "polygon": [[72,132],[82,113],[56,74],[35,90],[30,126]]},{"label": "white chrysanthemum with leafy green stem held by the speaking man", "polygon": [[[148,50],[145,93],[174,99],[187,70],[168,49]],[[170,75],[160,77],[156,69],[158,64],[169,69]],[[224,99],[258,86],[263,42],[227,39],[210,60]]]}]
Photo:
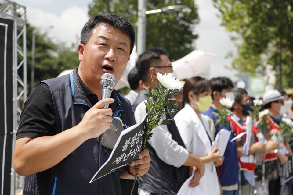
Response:
[{"label": "white chrysanthemum with leafy green stem held by the speaking man", "polygon": [[[165,119],[161,120],[165,114],[174,112],[177,110],[176,101],[170,100],[172,96],[179,93],[182,86],[179,84],[179,79],[172,77],[171,74],[164,74],[157,73],[158,82],[154,82],[154,89],[149,87],[148,93],[145,94],[148,99],[146,104],[146,112],[147,112],[147,125],[144,130],[144,140],[143,140],[143,149],[145,148],[146,141],[152,137],[151,131],[160,125],[167,125],[169,124],[169,120],[172,119]],[[137,173],[133,182],[132,191],[134,189],[134,185],[136,182]]]}]

